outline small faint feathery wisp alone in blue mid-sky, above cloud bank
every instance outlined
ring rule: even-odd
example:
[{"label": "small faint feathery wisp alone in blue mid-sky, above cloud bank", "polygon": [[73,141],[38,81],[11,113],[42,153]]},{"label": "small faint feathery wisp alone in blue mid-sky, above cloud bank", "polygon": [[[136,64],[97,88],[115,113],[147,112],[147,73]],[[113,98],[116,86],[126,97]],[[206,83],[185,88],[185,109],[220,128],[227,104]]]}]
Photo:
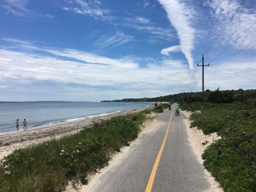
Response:
[{"label": "small faint feathery wisp alone in blue mid-sky, above cloud bank", "polygon": [[101,35],[94,43],[94,46],[103,49],[107,47],[119,46],[130,41],[134,41],[134,36],[126,35],[122,32],[117,32],[115,34],[107,33]]}]

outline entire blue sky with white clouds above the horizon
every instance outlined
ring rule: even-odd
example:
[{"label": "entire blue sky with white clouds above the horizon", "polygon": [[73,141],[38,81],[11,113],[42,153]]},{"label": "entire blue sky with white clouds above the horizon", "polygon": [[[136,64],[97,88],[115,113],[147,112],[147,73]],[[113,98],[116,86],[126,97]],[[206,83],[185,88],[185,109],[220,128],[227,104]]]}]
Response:
[{"label": "entire blue sky with white clouds above the horizon", "polygon": [[[255,0],[2,0],[0,101],[256,89]],[[255,24],[255,25],[254,25]]]}]

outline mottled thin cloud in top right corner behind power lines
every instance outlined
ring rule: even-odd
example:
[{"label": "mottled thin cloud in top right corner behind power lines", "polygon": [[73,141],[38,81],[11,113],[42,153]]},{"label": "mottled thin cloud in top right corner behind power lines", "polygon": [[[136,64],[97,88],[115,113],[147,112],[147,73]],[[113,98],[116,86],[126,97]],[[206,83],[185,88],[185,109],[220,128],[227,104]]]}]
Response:
[{"label": "mottled thin cloud in top right corner behind power lines", "polygon": [[[215,26],[213,26],[214,31],[221,31],[221,29],[226,25],[227,21],[229,21],[231,16],[235,13],[240,3],[241,2],[238,3],[237,1],[228,0],[213,0],[211,2],[207,1],[206,3],[204,3],[205,6],[211,7],[212,18],[217,19]],[[245,7],[244,4],[221,35],[221,38],[219,40],[220,43],[225,45],[233,43],[249,27],[251,27],[255,21],[255,10],[250,9],[250,7]],[[250,30],[246,31],[246,33],[233,44],[233,47],[241,49],[250,44],[251,42],[255,41],[255,29],[256,25],[254,25]],[[252,45],[249,47],[249,49],[254,49],[255,47],[256,45]]]}]

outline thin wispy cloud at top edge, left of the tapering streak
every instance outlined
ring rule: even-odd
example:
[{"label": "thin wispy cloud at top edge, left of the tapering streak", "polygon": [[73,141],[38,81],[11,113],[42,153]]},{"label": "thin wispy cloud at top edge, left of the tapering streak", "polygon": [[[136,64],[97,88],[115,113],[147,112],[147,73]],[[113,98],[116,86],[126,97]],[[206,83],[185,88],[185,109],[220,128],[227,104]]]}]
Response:
[{"label": "thin wispy cloud at top edge, left of the tapering streak", "polygon": [[100,1],[91,0],[75,0],[66,1],[69,6],[63,6],[62,9],[65,11],[72,11],[77,14],[84,14],[94,19],[109,20],[109,10],[100,8]]}]

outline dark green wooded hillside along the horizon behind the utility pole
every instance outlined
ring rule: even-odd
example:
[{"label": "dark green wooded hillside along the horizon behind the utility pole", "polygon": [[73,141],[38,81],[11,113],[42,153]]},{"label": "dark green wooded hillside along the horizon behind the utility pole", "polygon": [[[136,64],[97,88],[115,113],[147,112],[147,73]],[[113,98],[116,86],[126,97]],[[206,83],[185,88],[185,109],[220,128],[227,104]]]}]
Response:
[{"label": "dark green wooded hillside along the horizon behind the utility pole", "polygon": [[[205,90],[204,92],[204,101],[205,102],[213,102],[213,103],[231,103],[233,101],[245,101],[247,99],[256,98],[256,90],[225,90],[220,91],[218,87],[217,90],[210,91]],[[138,99],[121,99],[121,100],[113,100],[113,101],[101,101],[101,102],[201,102],[202,101],[202,92],[184,92],[178,94],[170,94],[166,96],[160,96],[156,98],[138,98]]]}]

